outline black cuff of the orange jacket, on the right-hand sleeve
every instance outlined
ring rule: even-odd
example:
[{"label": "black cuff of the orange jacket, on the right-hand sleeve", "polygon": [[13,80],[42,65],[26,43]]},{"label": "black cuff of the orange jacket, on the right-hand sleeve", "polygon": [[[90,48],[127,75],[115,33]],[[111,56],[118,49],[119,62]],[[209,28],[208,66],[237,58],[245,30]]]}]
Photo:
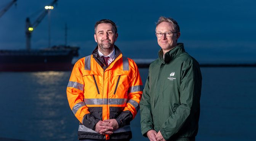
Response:
[{"label": "black cuff of the orange jacket, on the right-hand sleeve", "polygon": [[130,111],[122,111],[116,118],[118,127],[121,128],[125,125],[130,125],[130,121],[133,119],[133,114]]}]

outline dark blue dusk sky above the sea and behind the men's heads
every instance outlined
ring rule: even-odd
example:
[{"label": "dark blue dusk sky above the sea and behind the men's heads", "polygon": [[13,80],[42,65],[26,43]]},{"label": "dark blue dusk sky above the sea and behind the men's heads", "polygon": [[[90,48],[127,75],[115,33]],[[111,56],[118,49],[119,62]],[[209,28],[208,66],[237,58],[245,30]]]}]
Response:
[{"label": "dark blue dusk sky above the sea and behind the men's heads", "polygon": [[[1,0],[0,8],[11,0]],[[0,18],[0,49],[25,49],[25,20],[52,0],[18,0]],[[157,58],[155,37],[159,16],[173,17],[181,28],[179,42],[200,63],[256,62],[256,2],[254,0],[59,0],[51,11],[51,45],[81,47],[89,55],[94,24],[111,19],[118,25],[116,45],[130,58]],[[32,21],[37,16],[30,17]],[[32,49],[48,47],[48,16],[32,33]]]}]

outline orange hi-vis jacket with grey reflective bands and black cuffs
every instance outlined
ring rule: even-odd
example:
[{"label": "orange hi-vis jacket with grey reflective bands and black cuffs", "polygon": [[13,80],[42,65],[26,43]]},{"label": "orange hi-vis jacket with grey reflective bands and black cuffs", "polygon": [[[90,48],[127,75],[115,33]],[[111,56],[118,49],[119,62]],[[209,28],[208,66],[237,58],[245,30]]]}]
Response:
[{"label": "orange hi-vis jacket with grey reflective bands and black cuffs", "polygon": [[[67,85],[67,99],[80,121],[78,139],[131,139],[130,121],[139,110],[142,81],[138,67],[115,46],[115,60],[106,66],[93,54],[75,63]],[[112,135],[94,131],[99,120],[116,119],[118,129]]]}]

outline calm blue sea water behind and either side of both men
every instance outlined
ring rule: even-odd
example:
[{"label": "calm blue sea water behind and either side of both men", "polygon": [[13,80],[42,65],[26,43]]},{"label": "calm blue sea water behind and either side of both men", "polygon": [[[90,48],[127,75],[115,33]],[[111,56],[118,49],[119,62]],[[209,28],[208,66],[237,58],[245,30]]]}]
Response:
[{"label": "calm blue sea water behind and either side of both men", "polygon": [[[140,69],[145,83],[148,69]],[[254,140],[256,67],[203,67],[198,141]],[[0,139],[77,140],[78,120],[69,108],[70,72],[0,72]],[[139,114],[133,141],[147,141]]]}]

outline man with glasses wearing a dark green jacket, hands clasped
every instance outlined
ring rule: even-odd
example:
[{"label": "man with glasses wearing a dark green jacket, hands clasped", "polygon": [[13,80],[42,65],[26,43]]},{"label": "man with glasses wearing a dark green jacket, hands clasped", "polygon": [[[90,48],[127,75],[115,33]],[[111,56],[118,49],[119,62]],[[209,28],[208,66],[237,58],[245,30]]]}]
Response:
[{"label": "man with glasses wearing a dark green jacket, hands clasped", "polygon": [[156,26],[159,58],[149,66],[142,94],[141,133],[150,141],[194,141],[198,132],[202,75],[185,52],[179,25],[160,17]]}]

